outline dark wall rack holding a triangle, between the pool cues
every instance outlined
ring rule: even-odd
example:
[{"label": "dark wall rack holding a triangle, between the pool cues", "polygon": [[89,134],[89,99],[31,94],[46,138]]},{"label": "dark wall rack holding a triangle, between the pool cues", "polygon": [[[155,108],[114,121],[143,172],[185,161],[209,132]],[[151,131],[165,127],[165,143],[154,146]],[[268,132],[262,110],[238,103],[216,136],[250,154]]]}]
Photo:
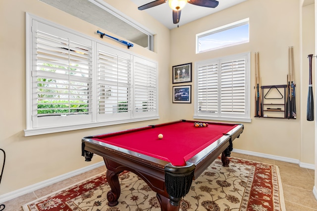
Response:
[{"label": "dark wall rack holding a triangle, between the pool cues", "polygon": [[262,116],[264,118],[287,119],[286,89],[287,85],[264,85],[262,89]]}]

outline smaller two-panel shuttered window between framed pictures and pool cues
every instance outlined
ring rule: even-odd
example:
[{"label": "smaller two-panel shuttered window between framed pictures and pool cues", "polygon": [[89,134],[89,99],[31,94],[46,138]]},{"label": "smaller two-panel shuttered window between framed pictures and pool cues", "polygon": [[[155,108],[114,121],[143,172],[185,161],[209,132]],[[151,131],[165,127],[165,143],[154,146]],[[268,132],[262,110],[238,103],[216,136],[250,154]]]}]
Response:
[{"label": "smaller two-panel shuttered window between framed pictures and pool cues", "polygon": [[196,62],[196,119],[250,122],[250,53]]}]

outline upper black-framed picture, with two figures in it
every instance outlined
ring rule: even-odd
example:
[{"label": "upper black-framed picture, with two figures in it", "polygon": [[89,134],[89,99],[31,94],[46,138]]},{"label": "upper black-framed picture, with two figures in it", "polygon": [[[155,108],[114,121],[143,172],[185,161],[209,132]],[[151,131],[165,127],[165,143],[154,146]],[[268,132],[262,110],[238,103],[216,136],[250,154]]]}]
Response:
[{"label": "upper black-framed picture, with two figures in it", "polygon": [[173,84],[192,82],[192,63],[173,66]]}]

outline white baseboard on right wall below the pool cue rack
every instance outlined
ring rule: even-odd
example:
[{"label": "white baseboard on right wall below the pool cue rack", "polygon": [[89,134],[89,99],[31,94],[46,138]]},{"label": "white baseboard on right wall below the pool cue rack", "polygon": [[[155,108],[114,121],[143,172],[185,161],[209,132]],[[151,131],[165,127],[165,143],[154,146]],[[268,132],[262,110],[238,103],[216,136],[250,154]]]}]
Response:
[{"label": "white baseboard on right wall below the pool cue rack", "polygon": [[269,154],[252,152],[252,151],[246,151],[246,150],[241,150],[241,149],[233,149],[233,152],[241,153],[241,154],[245,154],[245,155],[257,156],[257,157],[260,157],[260,158],[268,158],[268,159],[273,159],[273,160],[277,160],[277,161],[283,161],[283,162],[298,164],[302,168],[315,170],[315,165],[314,164],[302,163],[299,160],[293,159],[293,158],[286,158],[286,157],[281,157],[281,156],[276,156],[276,155],[269,155]]}]

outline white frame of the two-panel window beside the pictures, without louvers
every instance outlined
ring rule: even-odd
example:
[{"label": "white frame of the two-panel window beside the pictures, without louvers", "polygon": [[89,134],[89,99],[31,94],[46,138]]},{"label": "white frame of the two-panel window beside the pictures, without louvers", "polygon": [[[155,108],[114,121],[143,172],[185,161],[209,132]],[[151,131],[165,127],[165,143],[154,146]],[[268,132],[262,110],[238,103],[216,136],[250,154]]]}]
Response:
[{"label": "white frame of the two-panel window beside the pictures, without louvers", "polygon": [[[250,61],[250,52],[230,55],[230,56],[224,56],[219,58],[214,58],[210,60],[205,61],[198,61],[195,62],[195,98],[194,98],[194,119],[206,119],[206,120],[217,120],[217,121],[234,121],[234,122],[251,122],[251,112],[250,112],[250,75],[251,75],[251,61]],[[244,58],[245,59],[245,113],[244,114],[221,114],[219,113],[211,113],[211,112],[199,112],[199,68],[203,65],[214,65],[217,64],[218,72],[221,72],[221,63],[225,63],[231,60],[235,60],[238,58]],[[222,62],[221,62],[222,61]],[[219,81],[219,77],[221,74],[217,75],[217,81]],[[221,81],[221,78],[220,78]],[[217,84],[218,89],[220,88],[221,83]],[[217,106],[221,109],[221,105],[219,103],[219,99],[221,98],[221,95],[217,96]]]}]

